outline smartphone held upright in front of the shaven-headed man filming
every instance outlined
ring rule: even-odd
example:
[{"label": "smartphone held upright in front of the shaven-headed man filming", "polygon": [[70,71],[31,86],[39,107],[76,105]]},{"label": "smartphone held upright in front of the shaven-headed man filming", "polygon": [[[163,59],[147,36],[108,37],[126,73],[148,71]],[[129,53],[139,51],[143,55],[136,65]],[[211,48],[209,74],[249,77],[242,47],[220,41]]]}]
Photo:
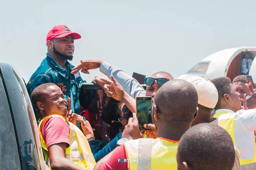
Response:
[{"label": "smartphone held upright in front of the shaven-headed man filming", "polygon": [[139,129],[144,130],[144,124],[152,123],[152,97],[136,97],[136,111]]}]

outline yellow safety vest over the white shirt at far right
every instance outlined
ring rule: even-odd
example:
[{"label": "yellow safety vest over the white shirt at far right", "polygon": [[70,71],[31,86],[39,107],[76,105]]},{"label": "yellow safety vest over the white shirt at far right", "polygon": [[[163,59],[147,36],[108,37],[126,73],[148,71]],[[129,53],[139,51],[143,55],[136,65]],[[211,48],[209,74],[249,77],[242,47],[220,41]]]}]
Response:
[{"label": "yellow safety vest over the white shirt at far right", "polygon": [[[235,123],[235,113],[227,113],[227,114],[222,114],[218,118],[219,121],[219,126],[224,128],[229,135],[232,138],[232,141],[235,146],[235,132],[234,132],[234,123]],[[241,170],[255,170],[256,169],[256,144],[254,140],[254,157],[249,160],[244,160],[240,159],[240,165],[241,165]]]}]

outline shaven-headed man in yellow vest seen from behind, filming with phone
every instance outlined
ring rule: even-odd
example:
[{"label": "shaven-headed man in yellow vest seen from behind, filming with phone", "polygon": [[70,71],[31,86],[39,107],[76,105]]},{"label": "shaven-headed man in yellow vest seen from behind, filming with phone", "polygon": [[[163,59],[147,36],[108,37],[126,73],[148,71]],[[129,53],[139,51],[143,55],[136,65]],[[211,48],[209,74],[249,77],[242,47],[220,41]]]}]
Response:
[{"label": "shaven-headed man in yellow vest seen from behind, filming with phone", "polygon": [[[197,101],[197,91],[192,84],[181,79],[166,82],[156,92],[152,108],[157,138],[140,138],[138,119],[133,113],[123,132],[132,140],[102,158],[94,170],[176,170],[178,142],[197,115]],[[135,161],[118,162],[121,159]]]}]

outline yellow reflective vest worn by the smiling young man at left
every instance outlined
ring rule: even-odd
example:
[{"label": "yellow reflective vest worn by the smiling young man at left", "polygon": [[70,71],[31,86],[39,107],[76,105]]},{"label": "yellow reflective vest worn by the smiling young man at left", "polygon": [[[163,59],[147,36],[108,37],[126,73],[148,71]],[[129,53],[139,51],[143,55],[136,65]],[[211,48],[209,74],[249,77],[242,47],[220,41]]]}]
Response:
[{"label": "yellow reflective vest worn by the smiling young man at left", "polygon": [[44,153],[44,160],[49,165],[49,167],[50,167],[50,161],[48,157],[48,149],[43,139],[41,128],[43,127],[43,124],[46,122],[46,120],[48,120],[51,117],[60,117],[70,126],[70,132],[69,132],[70,146],[66,148],[65,158],[69,159],[74,164],[86,170],[92,170],[96,165],[96,162],[93,154],[91,153],[91,148],[86,137],[76,125],[74,125],[71,122],[68,122],[62,115],[59,115],[59,114],[48,115],[43,120],[41,120],[38,125],[40,140],[41,140],[43,153]]}]

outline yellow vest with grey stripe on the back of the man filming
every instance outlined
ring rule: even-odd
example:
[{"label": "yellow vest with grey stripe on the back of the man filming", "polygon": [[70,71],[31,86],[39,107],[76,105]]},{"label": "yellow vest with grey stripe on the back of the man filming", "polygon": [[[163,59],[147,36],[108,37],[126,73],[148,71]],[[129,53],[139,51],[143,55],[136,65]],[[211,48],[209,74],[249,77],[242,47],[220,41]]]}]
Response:
[{"label": "yellow vest with grey stripe on the back of the man filming", "polygon": [[140,138],[124,143],[129,170],[177,170],[178,142],[166,138]]}]

